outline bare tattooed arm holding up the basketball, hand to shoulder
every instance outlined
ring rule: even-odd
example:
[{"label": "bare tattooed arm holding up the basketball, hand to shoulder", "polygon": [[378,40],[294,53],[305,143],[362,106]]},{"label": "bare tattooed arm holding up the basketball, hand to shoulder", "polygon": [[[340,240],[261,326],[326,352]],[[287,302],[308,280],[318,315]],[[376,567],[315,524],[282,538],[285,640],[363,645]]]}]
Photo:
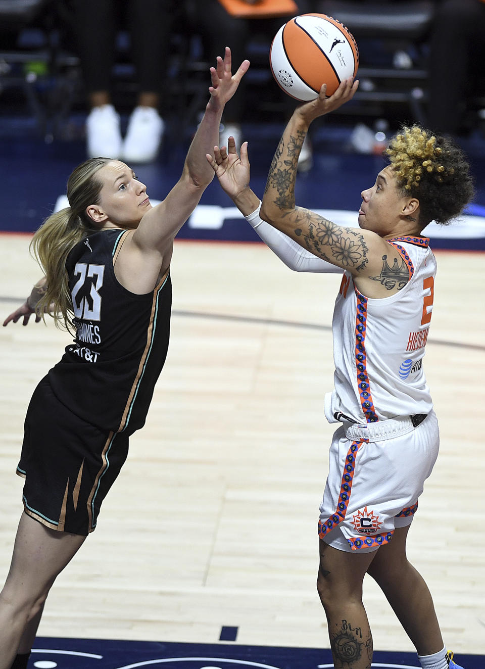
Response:
[{"label": "bare tattooed arm holding up the basketball, hand to shoulder", "polygon": [[[326,98],[324,85],[316,100],[296,108],[274,154],[260,212],[264,221],[300,246],[352,274],[369,271],[371,246],[376,244],[381,249],[383,240],[375,233],[336,225],[309,209],[297,207],[294,187],[298,156],[308,126],[318,116],[328,114],[351,100],[357,86],[358,82],[345,80],[332,96]],[[382,262],[381,256],[379,262]],[[371,269],[375,271],[377,267]]]}]

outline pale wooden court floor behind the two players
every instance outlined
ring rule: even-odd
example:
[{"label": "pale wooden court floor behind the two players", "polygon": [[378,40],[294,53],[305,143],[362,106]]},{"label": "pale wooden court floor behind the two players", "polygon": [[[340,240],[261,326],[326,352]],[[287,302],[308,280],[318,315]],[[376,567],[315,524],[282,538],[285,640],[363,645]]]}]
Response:
[{"label": "pale wooden court floor behind the two players", "polygon": [[[39,272],[3,234],[3,318]],[[436,252],[425,370],[441,454],[409,534],[446,644],[485,654],[484,255]],[[98,529],[60,575],[41,636],[328,648],[316,522],[333,428],[330,323],[338,275],[297,274],[262,244],[176,242],[171,345],[147,425]],[[21,513],[14,474],[33,388],[68,335],[0,330],[0,580]],[[377,650],[412,651],[373,582]]]}]

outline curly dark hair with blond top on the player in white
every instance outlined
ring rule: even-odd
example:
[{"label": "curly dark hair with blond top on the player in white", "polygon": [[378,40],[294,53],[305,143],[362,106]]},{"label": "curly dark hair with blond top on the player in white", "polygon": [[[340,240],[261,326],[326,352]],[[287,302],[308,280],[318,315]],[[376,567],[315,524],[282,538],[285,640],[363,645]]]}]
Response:
[{"label": "curly dark hair with blond top on the player in white", "polygon": [[403,193],[419,200],[419,223],[449,223],[474,194],[470,165],[450,138],[414,124],[403,126],[385,154]]}]

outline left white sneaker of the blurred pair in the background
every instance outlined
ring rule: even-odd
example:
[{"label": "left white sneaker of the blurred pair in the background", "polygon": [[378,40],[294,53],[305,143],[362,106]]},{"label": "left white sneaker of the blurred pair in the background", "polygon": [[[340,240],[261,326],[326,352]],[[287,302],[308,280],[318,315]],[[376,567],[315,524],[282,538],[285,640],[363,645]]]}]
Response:
[{"label": "left white sneaker of the blurred pair in the background", "polygon": [[93,107],[86,118],[86,150],[89,158],[121,156],[120,116],[112,104]]}]

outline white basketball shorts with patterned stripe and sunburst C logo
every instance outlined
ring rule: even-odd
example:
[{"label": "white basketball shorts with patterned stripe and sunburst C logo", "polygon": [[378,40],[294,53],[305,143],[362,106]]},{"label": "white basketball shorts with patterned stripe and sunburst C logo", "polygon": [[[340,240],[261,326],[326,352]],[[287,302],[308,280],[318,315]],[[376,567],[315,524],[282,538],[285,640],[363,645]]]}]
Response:
[{"label": "white basketball shorts with patterned stripe and sunburst C logo", "polygon": [[413,520],[439,446],[434,411],[417,427],[407,416],[343,423],[330,446],[320,539],[341,551],[364,553],[391,541],[395,527]]}]

